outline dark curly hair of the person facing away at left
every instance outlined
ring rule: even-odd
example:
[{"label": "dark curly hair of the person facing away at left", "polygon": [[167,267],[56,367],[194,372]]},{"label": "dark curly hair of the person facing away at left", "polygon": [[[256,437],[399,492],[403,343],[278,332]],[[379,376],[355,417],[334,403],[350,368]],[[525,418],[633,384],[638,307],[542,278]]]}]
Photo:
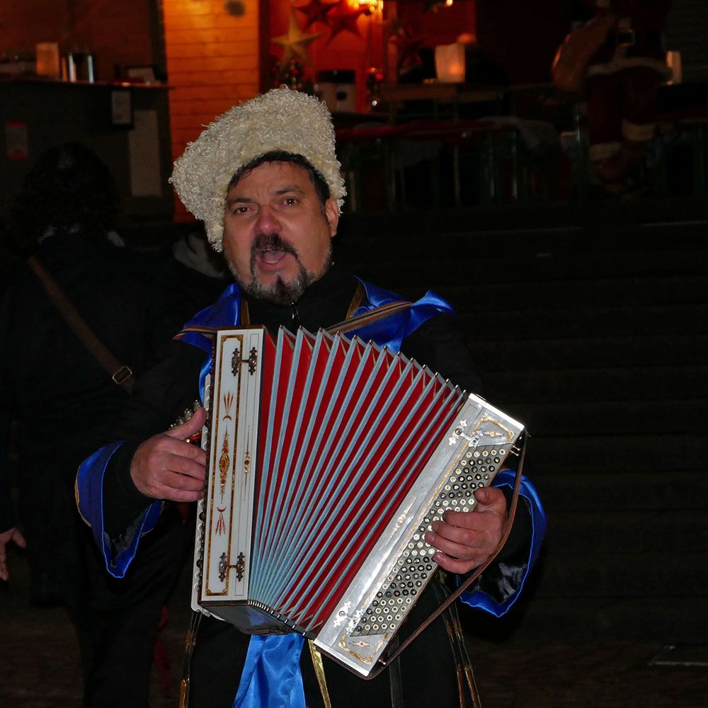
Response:
[{"label": "dark curly hair of the person facing away at left", "polygon": [[25,176],[10,210],[16,245],[31,250],[48,229],[104,236],[115,225],[118,190],[88,147],[69,142],[43,153]]}]

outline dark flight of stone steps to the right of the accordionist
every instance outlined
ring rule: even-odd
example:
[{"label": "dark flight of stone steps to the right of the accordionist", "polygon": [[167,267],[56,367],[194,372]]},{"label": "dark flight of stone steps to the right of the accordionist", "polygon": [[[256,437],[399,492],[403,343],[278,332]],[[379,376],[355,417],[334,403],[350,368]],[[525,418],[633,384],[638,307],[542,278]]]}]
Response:
[{"label": "dark flight of stone steps to the right of the accordionist", "polygon": [[450,299],[486,398],[530,430],[542,559],[478,634],[704,641],[708,213],[667,220],[603,203],[349,224],[355,271]]}]

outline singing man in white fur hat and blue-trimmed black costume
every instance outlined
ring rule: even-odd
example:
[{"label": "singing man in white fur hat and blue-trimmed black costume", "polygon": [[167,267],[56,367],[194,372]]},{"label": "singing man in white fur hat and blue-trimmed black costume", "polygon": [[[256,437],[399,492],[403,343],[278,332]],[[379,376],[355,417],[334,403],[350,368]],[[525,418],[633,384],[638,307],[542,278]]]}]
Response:
[{"label": "singing man in white fur hat and blue-trimmed black costume", "polygon": [[[274,89],[232,108],[190,144],[172,180],[185,206],[205,223],[212,245],[224,249],[235,282],[190,320],[166,358],[139,382],[113,441],[79,469],[79,510],[117,578],[130,571],[171,502],[202,497],[205,452],[185,440],[206,418],[199,407],[200,372],[208,370],[210,332],[236,324],[262,324],[271,333],[280,326],[316,331],[396,299],[333,263],[344,190],[331,116],[316,98]],[[400,316],[354,332],[479,389],[452,309],[432,293]],[[171,427],[194,401],[193,416]],[[503,489],[510,484],[508,476],[497,479],[497,486],[476,490],[476,510],[445,512],[426,534],[445,571],[469,573],[496,549],[508,510]],[[542,506],[526,479],[523,499],[503,558],[463,596],[497,615],[518,596],[544,531]],[[420,619],[434,606],[433,591],[426,590],[413,614]],[[411,618],[411,627],[415,622]],[[302,651],[297,633],[249,638],[216,617],[198,624],[184,682],[193,708],[304,708],[330,698],[338,707],[452,707],[464,700],[456,678],[462,665],[442,620],[404,651],[400,664],[371,681],[326,657],[323,679],[313,668],[319,661]]]}]

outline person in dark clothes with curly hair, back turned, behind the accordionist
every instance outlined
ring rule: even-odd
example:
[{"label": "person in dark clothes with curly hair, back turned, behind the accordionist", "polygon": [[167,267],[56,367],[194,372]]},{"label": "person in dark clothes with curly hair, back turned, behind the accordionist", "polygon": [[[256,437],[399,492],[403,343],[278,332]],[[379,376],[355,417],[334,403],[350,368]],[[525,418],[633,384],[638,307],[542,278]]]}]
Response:
[{"label": "person in dark clothes with curly hair, back turned, behind the accordionist", "polygon": [[[26,176],[8,229],[16,250],[41,263],[135,379],[185,317],[206,304],[201,298],[212,295],[202,282],[200,299],[185,299],[181,264],[115,245],[117,214],[105,164],[81,144],[64,144],[40,156]],[[103,572],[91,532],[76,515],[74,478],[129,394],[22,261],[1,299],[0,341],[0,578],[12,575],[7,545],[26,539],[33,601],[66,605],[78,630],[84,704],[145,707],[185,524],[176,513],[166,515],[127,581]]]}]

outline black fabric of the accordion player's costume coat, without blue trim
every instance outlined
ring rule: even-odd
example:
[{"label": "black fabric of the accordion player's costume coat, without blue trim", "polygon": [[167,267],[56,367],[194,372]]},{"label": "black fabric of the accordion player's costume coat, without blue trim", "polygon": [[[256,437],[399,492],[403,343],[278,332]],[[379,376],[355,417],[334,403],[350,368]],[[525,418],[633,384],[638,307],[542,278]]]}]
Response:
[{"label": "black fabric of the accordion player's costume coat, without blue trim", "polygon": [[[332,268],[308,288],[296,306],[273,305],[246,297],[251,324],[264,324],[271,332],[281,325],[290,330],[303,326],[316,331],[336,324],[346,319],[357,283],[341,268]],[[449,316],[438,315],[428,320],[404,340],[401,350],[461,387],[473,391],[481,387],[462,333]],[[130,410],[113,436],[113,440],[127,443],[113,455],[103,482],[105,531],[111,538],[119,539],[154,501],[142,496],[132,484],[130,460],[139,442],[166,430],[198,399],[198,372],[203,358],[201,350],[177,341],[169,357],[142,378]],[[416,626],[435,606],[432,592],[426,591],[406,624]],[[405,626],[401,632],[405,634]],[[248,646],[249,636],[229,624],[213,618],[201,620],[191,662],[191,707],[232,706]],[[307,705],[322,706],[307,649],[302,653],[301,666]],[[388,671],[373,680],[362,680],[325,658],[325,673],[336,708],[361,704],[379,708],[391,704]],[[452,653],[440,620],[406,649],[401,658],[401,678],[406,708],[459,705]]]}]

